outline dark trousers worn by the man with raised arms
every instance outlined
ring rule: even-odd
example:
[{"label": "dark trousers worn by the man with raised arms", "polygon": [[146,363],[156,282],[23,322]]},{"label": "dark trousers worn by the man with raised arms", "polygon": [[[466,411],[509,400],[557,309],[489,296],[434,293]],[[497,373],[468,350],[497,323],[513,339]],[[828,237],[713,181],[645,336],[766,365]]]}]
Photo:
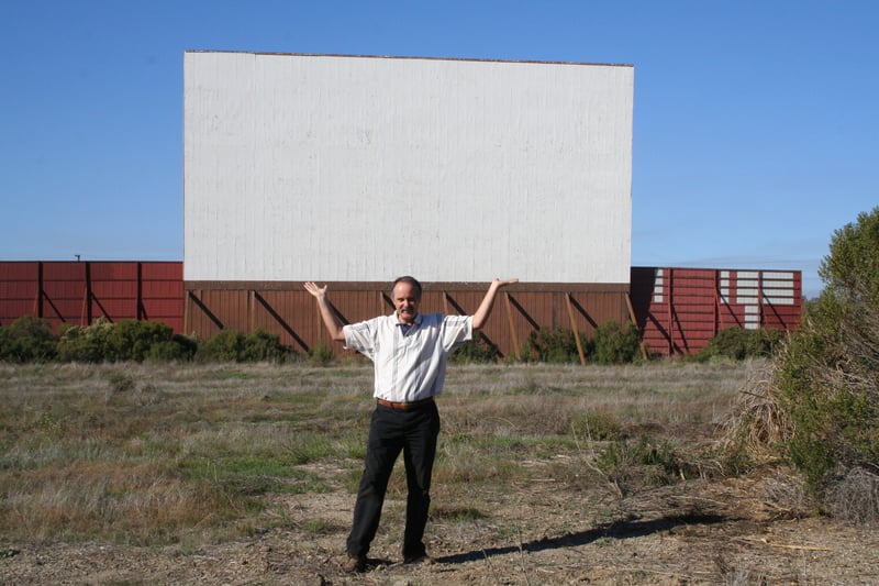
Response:
[{"label": "dark trousers worn by the man with raised arms", "polygon": [[424,555],[424,527],[431,506],[431,473],[439,434],[439,412],[431,401],[408,411],[377,406],[369,425],[366,464],[354,505],[347,550],[366,555],[376,537],[393,463],[403,452],[409,497],[405,507],[403,557]]}]

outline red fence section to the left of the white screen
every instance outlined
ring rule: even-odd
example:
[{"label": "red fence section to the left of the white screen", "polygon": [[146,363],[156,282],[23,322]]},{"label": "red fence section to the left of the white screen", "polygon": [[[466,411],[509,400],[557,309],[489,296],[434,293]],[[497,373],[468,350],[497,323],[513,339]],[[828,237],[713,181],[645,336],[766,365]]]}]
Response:
[{"label": "red fence section to the left of the white screen", "polygon": [[21,316],[88,325],[98,318],[183,327],[183,265],[163,262],[0,263],[0,324]]}]

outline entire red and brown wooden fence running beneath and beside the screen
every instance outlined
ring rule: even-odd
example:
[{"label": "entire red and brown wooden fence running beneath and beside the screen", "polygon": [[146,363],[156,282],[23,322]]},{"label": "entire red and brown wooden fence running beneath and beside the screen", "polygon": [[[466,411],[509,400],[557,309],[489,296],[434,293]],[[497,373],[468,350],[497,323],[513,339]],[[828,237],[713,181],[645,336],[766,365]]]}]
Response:
[{"label": "entire red and brown wooden fence running beneath and beside the screen", "polygon": [[[389,286],[334,283],[332,300],[340,318],[354,322],[392,309]],[[487,284],[424,286],[424,311],[472,313]],[[631,286],[523,283],[504,289],[483,334],[515,357],[541,328],[591,339],[600,324],[631,321],[650,353],[690,354],[725,328],[795,328],[802,303],[800,272],[634,267]],[[99,318],[160,321],[202,339],[222,329],[263,329],[299,352],[329,343],[301,281],[185,283],[179,262],[0,262],[0,324],[20,316],[53,327]]]}]

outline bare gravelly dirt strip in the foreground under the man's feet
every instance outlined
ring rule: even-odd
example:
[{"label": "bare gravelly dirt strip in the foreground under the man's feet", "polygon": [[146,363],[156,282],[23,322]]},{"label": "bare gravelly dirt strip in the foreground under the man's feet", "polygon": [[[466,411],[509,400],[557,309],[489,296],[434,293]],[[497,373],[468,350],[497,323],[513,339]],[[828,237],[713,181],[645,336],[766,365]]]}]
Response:
[{"label": "bare gravelly dirt strip in the foreground under the man's feet", "polygon": [[[687,480],[620,499],[552,478],[443,502],[430,565],[399,563],[390,499],[361,575],[342,572],[353,497],[279,498],[291,520],[235,543],[133,548],[2,543],[3,584],[874,584],[879,535],[772,504],[770,475]],[[442,504],[439,506],[438,504]],[[471,507],[470,507],[471,506]],[[468,508],[469,507],[469,508]],[[280,510],[280,509],[279,509]],[[479,515],[469,515],[472,511]]]}]

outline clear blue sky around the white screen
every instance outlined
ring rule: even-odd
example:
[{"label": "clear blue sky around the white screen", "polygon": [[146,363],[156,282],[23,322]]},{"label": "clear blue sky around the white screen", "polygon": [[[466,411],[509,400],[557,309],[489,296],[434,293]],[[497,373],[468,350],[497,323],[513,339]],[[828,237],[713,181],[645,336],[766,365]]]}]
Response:
[{"label": "clear blue sky around the white screen", "polygon": [[186,49],[632,64],[632,264],[803,272],[879,204],[879,2],[4,0],[0,259],[182,259]]}]

